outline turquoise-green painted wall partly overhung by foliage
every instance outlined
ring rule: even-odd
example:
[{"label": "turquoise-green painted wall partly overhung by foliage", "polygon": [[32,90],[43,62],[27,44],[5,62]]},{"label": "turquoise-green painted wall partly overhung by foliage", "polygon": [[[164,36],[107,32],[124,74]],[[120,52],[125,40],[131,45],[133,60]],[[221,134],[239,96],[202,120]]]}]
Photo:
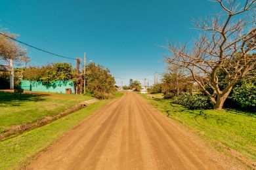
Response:
[{"label": "turquoise-green painted wall partly overhung by foliage", "polygon": [[51,84],[43,84],[42,82],[22,80],[21,88],[24,90],[31,90],[33,92],[54,92],[66,93],[66,88],[71,88],[72,93],[75,92],[75,86],[72,81],[56,81]]}]

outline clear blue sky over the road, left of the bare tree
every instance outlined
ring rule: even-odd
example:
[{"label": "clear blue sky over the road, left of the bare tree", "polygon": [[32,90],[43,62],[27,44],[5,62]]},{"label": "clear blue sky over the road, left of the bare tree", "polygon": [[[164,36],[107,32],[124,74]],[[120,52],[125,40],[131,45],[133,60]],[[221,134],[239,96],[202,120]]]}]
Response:
[{"label": "clear blue sky over the road, left of the bare tree", "polygon": [[[118,85],[129,78],[149,78],[166,65],[159,47],[167,40],[188,42],[197,37],[192,18],[213,13],[215,3],[207,0],[9,0],[1,1],[0,20],[16,25],[37,37],[0,21],[2,28],[20,35],[18,40],[71,58],[83,57],[110,69]],[[53,45],[54,44],[54,45]],[[28,48],[30,65],[70,59],[58,58]],[[150,84],[151,84],[150,83]]]}]

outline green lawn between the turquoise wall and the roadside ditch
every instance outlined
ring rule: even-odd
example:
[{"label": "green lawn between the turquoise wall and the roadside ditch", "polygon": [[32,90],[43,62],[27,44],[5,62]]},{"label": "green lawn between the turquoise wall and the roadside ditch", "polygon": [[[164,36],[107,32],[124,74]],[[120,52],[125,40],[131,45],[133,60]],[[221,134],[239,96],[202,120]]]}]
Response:
[{"label": "green lawn between the turquoise wall and the roadside ditch", "polygon": [[72,107],[81,101],[93,99],[85,95],[62,93],[0,92],[0,132],[8,127],[33,122]]}]

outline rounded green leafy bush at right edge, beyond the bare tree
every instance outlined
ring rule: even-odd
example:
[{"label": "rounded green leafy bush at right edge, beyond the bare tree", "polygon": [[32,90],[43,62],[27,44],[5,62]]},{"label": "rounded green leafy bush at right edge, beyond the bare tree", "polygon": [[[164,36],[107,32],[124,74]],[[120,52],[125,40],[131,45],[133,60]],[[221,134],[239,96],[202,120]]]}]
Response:
[{"label": "rounded green leafy bush at right edge, beyond the bare tree", "polygon": [[230,99],[242,108],[254,108],[256,110],[256,78],[244,80],[232,89]]}]

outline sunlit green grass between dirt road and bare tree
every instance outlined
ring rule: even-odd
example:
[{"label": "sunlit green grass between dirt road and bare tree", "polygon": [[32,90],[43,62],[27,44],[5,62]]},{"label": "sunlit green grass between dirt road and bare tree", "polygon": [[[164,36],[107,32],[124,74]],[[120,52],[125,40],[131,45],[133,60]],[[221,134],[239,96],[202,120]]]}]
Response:
[{"label": "sunlit green grass between dirt road and bare tree", "polygon": [[171,103],[170,99],[142,96],[161,112],[166,115],[168,112],[170,118],[190,127],[217,150],[224,151],[224,145],[248,160],[256,161],[256,113],[239,110],[188,110]]}]

